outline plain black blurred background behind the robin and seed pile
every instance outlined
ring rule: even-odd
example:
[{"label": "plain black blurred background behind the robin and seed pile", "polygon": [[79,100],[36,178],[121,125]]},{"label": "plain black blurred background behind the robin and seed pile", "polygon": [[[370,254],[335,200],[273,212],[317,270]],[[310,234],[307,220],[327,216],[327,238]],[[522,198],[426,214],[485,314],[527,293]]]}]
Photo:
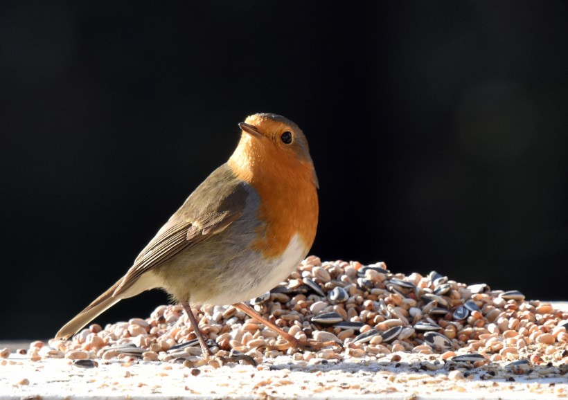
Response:
[{"label": "plain black blurred background behind the robin and seed pile", "polygon": [[0,338],[53,336],[120,278],[260,111],[310,140],[322,260],[566,300],[567,20],[565,1],[3,1]]}]

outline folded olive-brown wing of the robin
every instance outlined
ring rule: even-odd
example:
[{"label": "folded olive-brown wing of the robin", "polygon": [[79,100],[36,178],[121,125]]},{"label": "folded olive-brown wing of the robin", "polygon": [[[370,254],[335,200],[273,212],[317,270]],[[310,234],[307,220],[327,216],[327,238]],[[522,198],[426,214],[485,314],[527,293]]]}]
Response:
[{"label": "folded olive-brown wing of the robin", "polygon": [[226,164],[215,170],[136,257],[114,296],[185,248],[225,230],[242,215],[247,195],[246,183],[236,179]]}]

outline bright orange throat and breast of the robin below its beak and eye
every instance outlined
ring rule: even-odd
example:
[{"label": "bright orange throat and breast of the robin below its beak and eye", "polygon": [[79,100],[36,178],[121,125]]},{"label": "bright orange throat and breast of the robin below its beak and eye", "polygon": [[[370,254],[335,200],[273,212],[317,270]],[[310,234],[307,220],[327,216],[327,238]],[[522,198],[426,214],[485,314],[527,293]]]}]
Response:
[{"label": "bright orange throat and breast of the robin below its beak and eye", "polygon": [[314,242],[319,212],[312,163],[278,150],[269,140],[263,143],[243,137],[229,160],[236,176],[258,192],[258,219],[265,221],[265,229],[252,246],[270,258],[279,257],[294,235],[307,253]]}]

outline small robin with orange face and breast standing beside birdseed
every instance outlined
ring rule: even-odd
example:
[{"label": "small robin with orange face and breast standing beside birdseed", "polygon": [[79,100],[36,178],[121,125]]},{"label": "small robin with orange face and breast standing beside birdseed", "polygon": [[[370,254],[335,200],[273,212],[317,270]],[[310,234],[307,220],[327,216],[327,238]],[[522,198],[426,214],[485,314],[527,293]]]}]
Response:
[{"label": "small robin with orange face and breast standing beside birdseed", "polygon": [[191,310],[201,304],[233,304],[291,347],[319,347],[244,303],[285,280],[314,242],[319,186],[308,141],[294,122],[272,113],[254,114],[239,126],[229,161],[190,194],[126,275],[55,338],[73,336],[119,300],[161,288],[184,307],[205,360],[213,354]]}]

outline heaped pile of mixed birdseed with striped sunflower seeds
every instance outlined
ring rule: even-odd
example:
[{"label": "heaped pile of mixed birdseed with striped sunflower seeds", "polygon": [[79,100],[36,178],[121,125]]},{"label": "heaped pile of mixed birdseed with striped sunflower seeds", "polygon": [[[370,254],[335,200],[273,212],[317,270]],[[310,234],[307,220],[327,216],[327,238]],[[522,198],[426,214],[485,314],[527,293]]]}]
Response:
[{"label": "heaped pile of mixed birdseed with striped sunflower seeds", "polygon": [[[245,354],[258,371],[281,358],[300,368],[350,362],[410,374],[443,373],[451,380],[542,381],[568,372],[568,312],[526,301],[518,291],[468,286],[435,271],[405,276],[384,263],[321,262],[310,256],[287,281],[251,304],[296,338],[337,343],[314,352],[286,349],[283,338],[232,306],[196,311],[213,354]],[[202,350],[182,307],[168,305],[149,318],[105,329],[94,324],[72,340],[37,341],[19,353],[30,361],[66,358],[87,368],[116,361],[194,367]],[[0,350],[0,357],[8,356]]]}]

